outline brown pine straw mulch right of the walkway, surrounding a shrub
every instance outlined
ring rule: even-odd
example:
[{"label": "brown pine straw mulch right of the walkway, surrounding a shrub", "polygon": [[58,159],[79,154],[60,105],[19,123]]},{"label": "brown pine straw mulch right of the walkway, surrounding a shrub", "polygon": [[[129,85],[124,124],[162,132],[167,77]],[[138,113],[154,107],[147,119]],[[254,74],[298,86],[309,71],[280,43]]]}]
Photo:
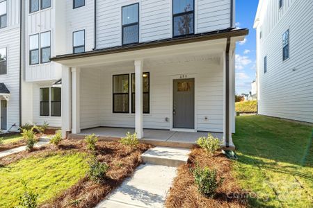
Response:
[{"label": "brown pine straw mulch right of the walkway, surrounding a shrub", "polygon": [[[198,188],[194,183],[191,168],[198,163],[199,166],[209,166],[215,168],[218,177],[223,177],[222,187],[217,189],[214,198],[206,198],[198,192]],[[201,148],[193,148],[189,155],[188,163],[179,166],[178,175],[172,184],[172,188],[166,198],[166,207],[246,207],[246,200],[237,200],[232,194],[245,194],[239,185],[236,184],[232,176],[232,161],[227,159],[222,153],[216,153],[213,157],[208,157]]]}]

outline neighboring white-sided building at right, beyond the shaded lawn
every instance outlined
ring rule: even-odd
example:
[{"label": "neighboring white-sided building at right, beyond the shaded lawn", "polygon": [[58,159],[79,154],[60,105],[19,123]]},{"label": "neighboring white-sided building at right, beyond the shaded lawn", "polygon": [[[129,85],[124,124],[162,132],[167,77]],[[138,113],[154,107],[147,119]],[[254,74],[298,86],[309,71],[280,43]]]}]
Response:
[{"label": "neighboring white-sided building at right, beyond the shaded lawn", "polygon": [[258,113],[313,123],[313,1],[259,1]]}]

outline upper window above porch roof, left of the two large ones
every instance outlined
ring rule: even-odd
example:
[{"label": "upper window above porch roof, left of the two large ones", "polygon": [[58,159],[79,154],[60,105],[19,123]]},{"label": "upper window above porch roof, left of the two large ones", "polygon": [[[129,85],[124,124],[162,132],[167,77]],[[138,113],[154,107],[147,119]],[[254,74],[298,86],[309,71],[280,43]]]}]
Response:
[{"label": "upper window above porch roof, left of the two large ones", "polygon": [[139,42],[139,4],[122,7],[122,44]]}]

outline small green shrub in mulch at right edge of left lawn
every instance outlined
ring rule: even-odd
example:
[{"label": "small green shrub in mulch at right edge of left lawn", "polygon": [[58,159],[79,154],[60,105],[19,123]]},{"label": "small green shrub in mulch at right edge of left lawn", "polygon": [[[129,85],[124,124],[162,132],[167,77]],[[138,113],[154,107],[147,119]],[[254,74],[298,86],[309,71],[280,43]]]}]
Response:
[{"label": "small green shrub in mulch at right edge of left lawn", "polygon": [[102,182],[106,177],[106,172],[109,170],[109,165],[99,162],[93,158],[89,162],[89,177],[95,182]]}]

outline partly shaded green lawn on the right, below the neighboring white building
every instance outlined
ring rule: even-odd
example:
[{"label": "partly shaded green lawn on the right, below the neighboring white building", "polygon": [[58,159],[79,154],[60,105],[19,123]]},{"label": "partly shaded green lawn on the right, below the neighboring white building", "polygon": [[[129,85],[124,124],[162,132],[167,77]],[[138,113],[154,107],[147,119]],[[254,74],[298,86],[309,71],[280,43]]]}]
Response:
[{"label": "partly shaded green lawn on the right, below the neighboring white building", "polygon": [[255,194],[251,207],[312,207],[312,126],[266,116],[239,116],[234,175]]}]

